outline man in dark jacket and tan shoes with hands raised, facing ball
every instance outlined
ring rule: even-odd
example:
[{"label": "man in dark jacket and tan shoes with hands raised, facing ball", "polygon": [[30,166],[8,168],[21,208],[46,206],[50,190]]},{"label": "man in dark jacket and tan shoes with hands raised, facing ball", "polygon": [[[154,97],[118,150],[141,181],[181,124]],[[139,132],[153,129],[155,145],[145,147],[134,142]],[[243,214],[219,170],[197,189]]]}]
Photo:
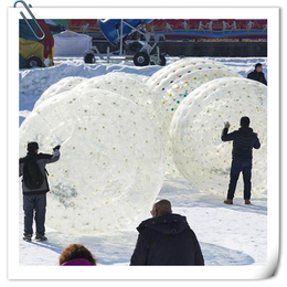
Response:
[{"label": "man in dark jacket and tan shoes with hands raised, facing ball", "polygon": [[227,199],[224,200],[226,204],[233,204],[233,198],[241,172],[243,173],[244,182],[244,202],[245,204],[251,203],[252,150],[253,148],[259,149],[261,142],[258,135],[253,132],[253,129],[249,128],[249,124],[251,120],[248,117],[242,117],[241,128],[238,130],[228,134],[231,125],[227,121],[222,131],[221,139],[223,141],[233,140],[230,187]]}]

